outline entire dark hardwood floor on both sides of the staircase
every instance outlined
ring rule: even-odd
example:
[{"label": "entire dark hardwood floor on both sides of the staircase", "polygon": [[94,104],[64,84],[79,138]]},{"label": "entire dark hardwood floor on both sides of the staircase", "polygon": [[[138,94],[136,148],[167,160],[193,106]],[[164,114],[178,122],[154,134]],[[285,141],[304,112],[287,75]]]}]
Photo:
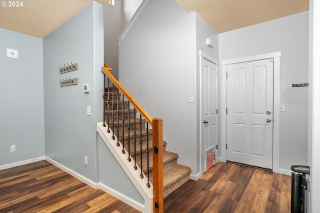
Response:
[{"label": "entire dark hardwood floor on both sides of the staircase", "polygon": [[[164,199],[165,213],[289,213],[291,177],[219,162]],[[0,171],[0,213],[138,213],[46,161]]]}]

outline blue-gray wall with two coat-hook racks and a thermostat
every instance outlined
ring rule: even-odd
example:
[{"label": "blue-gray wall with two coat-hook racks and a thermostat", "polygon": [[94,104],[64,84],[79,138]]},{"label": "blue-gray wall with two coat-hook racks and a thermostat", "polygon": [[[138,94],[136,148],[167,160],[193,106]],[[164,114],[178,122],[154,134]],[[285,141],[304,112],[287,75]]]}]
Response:
[{"label": "blue-gray wall with two coat-hook racks and a thermostat", "polygon": [[[70,62],[78,63],[78,69],[59,74],[58,66]],[[43,64],[45,155],[96,182],[95,123],[103,120],[103,7],[90,3],[43,38]],[[78,78],[78,84],[60,87],[59,79],[69,77]],[[88,93],[83,84],[89,84]]]}]

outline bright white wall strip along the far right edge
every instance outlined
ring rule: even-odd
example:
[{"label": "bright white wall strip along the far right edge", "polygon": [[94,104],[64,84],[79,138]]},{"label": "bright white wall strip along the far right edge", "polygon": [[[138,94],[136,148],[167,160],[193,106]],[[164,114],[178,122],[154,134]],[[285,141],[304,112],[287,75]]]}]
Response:
[{"label": "bright white wall strip along the far right edge", "polygon": [[312,79],[311,95],[309,101],[312,106],[309,108],[309,122],[310,138],[309,138],[309,158],[308,164],[310,165],[310,199],[309,199],[309,213],[316,213],[320,208],[320,87],[317,82],[320,81],[320,2],[317,0],[310,0],[310,60],[309,60],[309,78]]}]

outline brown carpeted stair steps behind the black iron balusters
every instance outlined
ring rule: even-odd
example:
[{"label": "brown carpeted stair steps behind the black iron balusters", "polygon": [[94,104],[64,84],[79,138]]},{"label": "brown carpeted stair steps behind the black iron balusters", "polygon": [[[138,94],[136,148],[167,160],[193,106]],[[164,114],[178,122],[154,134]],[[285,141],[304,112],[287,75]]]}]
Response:
[{"label": "brown carpeted stair steps behind the black iron balusters", "polygon": [[[114,136],[119,139],[119,146],[123,149],[122,154],[127,155],[128,161],[135,161],[137,167],[140,167],[142,156],[142,172],[147,177],[149,171],[149,180],[152,184],[152,129],[146,128],[146,121],[140,119],[134,109],[129,109],[128,101],[122,99],[121,93],[116,87],[105,88],[105,123],[113,132]],[[112,97],[113,96],[113,97]],[[112,101],[113,99],[113,101]],[[109,100],[109,104],[107,103]],[[113,110],[112,110],[113,105]],[[113,111],[113,112],[112,112]],[[113,119],[112,119],[113,113]],[[109,117],[108,117],[109,115]],[[118,116],[117,116],[118,115]],[[134,122],[135,121],[135,122]],[[123,125],[122,125],[123,124]],[[134,128],[135,133],[134,134]],[[147,137],[148,135],[148,137]],[[148,139],[148,147],[147,147]],[[140,141],[142,145],[140,146]],[[115,140],[116,143],[116,140]],[[166,151],[166,142],[163,141],[163,197],[165,198],[179,186],[189,180],[191,169],[186,166],[177,164],[178,154]],[[134,149],[135,148],[135,149]],[[149,152],[149,161],[147,167],[147,151]],[[136,153],[134,155],[134,153]],[[139,170],[139,168],[137,168]]]}]

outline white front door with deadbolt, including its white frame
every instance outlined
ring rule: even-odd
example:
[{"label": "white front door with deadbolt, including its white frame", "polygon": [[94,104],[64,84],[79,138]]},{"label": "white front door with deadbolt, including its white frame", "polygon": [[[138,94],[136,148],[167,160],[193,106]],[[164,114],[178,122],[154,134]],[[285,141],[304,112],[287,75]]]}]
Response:
[{"label": "white front door with deadbolt, including its white frame", "polygon": [[[263,55],[256,55],[256,56],[250,56],[250,57],[244,57],[244,58],[238,58],[238,59],[231,59],[231,60],[224,60],[221,61],[220,63],[220,93],[219,93],[219,109],[222,112],[222,114],[219,115],[219,140],[218,140],[218,151],[220,153],[220,155],[218,156],[218,160],[219,161],[223,161],[226,162],[227,160],[229,161],[237,161],[240,163],[244,163],[244,164],[249,164],[249,165],[254,165],[255,160],[238,160],[237,157],[232,156],[231,154],[234,154],[235,156],[240,156],[243,157],[244,155],[247,154],[247,150],[249,150],[249,156],[253,155],[255,158],[260,159],[260,163],[257,165],[259,167],[263,167],[263,168],[269,168],[272,169],[273,172],[279,172],[279,103],[280,103],[280,85],[279,85],[279,70],[280,70],[280,56],[281,53],[280,52],[274,52],[274,53],[268,53],[268,54],[263,54]],[[246,88],[246,83],[243,82],[243,78],[245,76],[245,71],[241,67],[241,65],[239,67],[236,67],[235,64],[242,64],[243,65],[247,65],[247,64],[251,64],[253,62],[256,61],[269,61],[269,63],[271,63],[271,65],[269,64],[269,66],[272,66],[273,68],[273,85],[271,85],[272,89],[270,91],[273,92],[273,97],[270,99],[268,99],[268,103],[266,103],[267,101],[264,101],[264,103],[266,104],[265,107],[264,104],[261,104],[262,102],[260,101],[261,99],[261,94],[264,92],[263,89],[262,90],[258,90],[258,88],[253,87],[253,90],[255,91],[254,93],[252,93],[252,84],[250,84],[251,86],[251,95],[250,92],[249,95],[246,94],[245,92],[243,92],[242,90],[242,95],[244,95],[246,98],[251,99],[251,106],[252,103],[254,102],[252,100],[252,98],[257,98],[257,101],[255,103],[255,105],[253,104],[253,110],[254,110],[254,115],[257,115],[257,118],[260,119],[260,123],[254,123],[257,121],[254,121],[253,123],[249,123],[250,128],[245,128],[243,125],[245,122],[243,122],[243,120],[235,120],[233,123],[231,122],[231,120],[234,119],[244,119],[244,118],[239,118],[241,117],[241,108],[239,107],[239,105],[236,105],[234,110],[238,111],[237,113],[235,113],[235,117],[234,116],[228,116],[230,115],[232,109],[229,109],[230,104],[240,104],[241,103],[241,99],[243,101],[243,98],[241,98],[241,93],[240,93],[240,89],[241,89],[241,84],[243,89],[247,89]],[[247,64],[245,64],[247,63]],[[258,63],[258,62],[256,62]],[[230,82],[228,82],[228,78],[234,78],[234,76],[230,76],[230,74],[227,71],[227,68],[234,68],[237,69],[237,71],[239,72],[235,72],[236,78],[241,78],[242,76],[242,81],[237,80],[237,82],[233,82],[235,87],[238,87],[238,89],[234,90],[234,92],[236,93],[236,99],[232,100],[232,95],[228,94],[228,91],[232,90],[232,87],[230,85],[232,85],[232,80],[230,80]],[[255,71],[255,80],[256,81],[262,81],[263,80],[263,72],[264,72],[264,68],[262,68],[264,65],[261,64],[255,64],[252,65],[252,67],[254,69],[256,69]],[[266,68],[266,67],[265,67]],[[252,70],[252,68],[250,69]],[[242,72],[242,73],[241,73]],[[228,73],[228,74],[227,74]],[[252,77],[254,78],[254,75],[252,75],[252,71],[250,71],[250,80],[252,80]],[[228,76],[227,76],[228,75]],[[229,79],[230,79],[229,78]],[[267,76],[265,76],[265,78],[267,78]],[[245,78],[244,78],[245,80]],[[228,88],[230,87],[230,88]],[[261,88],[261,87],[259,87]],[[265,88],[266,89],[266,88]],[[266,98],[266,93],[265,93],[265,98]],[[234,98],[234,97],[233,97]],[[230,100],[231,99],[231,100]],[[233,101],[233,102],[230,102]],[[272,102],[272,106],[269,106],[269,104]],[[245,105],[247,105],[249,102],[245,102],[242,103],[241,107],[244,107]],[[263,105],[263,106],[262,106]],[[234,107],[231,105],[231,107]],[[243,108],[243,112],[247,113],[245,111],[245,108]],[[265,110],[264,110],[265,108]],[[271,109],[268,109],[271,108]],[[262,109],[264,112],[262,112]],[[230,111],[231,110],[231,111]],[[233,110],[233,111],[234,111]],[[251,110],[252,112],[252,107],[249,107],[249,110]],[[269,112],[268,112],[269,111]],[[234,113],[233,113],[234,114]],[[242,113],[243,114],[243,113]],[[252,113],[251,113],[252,114]],[[250,119],[254,120],[254,116],[250,117]],[[263,119],[263,121],[262,121]],[[269,120],[268,120],[269,119]],[[271,125],[268,125],[271,124]],[[245,129],[249,129],[249,130],[245,130]],[[233,133],[232,133],[233,131]],[[242,131],[242,133],[241,133]],[[246,132],[245,132],[246,131]],[[269,134],[267,134],[267,132],[271,131],[271,136]],[[228,135],[228,132],[230,133]],[[233,134],[233,136],[232,136]],[[263,147],[266,146],[265,143],[266,141],[259,141],[260,139],[257,136],[260,135],[265,135],[265,140],[270,140],[267,139],[268,137],[271,137],[271,141],[272,144],[271,146],[268,145],[268,147]],[[233,138],[232,138],[233,137]],[[236,138],[235,138],[236,137]],[[244,137],[244,138],[243,138]],[[247,137],[250,138],[250,142],[248,142],[247,144],[244,143],[244,141],[246,141]],[[232,141],[233,140],[233,141]],[[253,141],[253,144],[252,144]],[[234,142],[235,144],[232,144]],[[231,144],[230,144],[231,143]],[[231,147],[230,147],[231,146]],[[247,148],[249,147],[249,148]],[[228,149],[230,149],[228,151]],[[241,150],[242,149],[242,150]],[[269,154],[265,154],[267,152]],[[270,151],[271,150],[271,151]],[[241,154],[241,152],[246,152],[246,154]],[[230,153],[229,153],[230,152]],[[268,156],[270,155],[271,156]],[[264,155],[266,157],[264,157]],[[244,157],[246,158],[246,157]],[[268,160],[265,160],[265,159]],[[235,160],[234,160],[235,159]],[[253,158],[254,159],[254,158]],[[241,162],[242,161],[242,162]],[[267,164],[264,164],[264,161],[268,161]]]}]

